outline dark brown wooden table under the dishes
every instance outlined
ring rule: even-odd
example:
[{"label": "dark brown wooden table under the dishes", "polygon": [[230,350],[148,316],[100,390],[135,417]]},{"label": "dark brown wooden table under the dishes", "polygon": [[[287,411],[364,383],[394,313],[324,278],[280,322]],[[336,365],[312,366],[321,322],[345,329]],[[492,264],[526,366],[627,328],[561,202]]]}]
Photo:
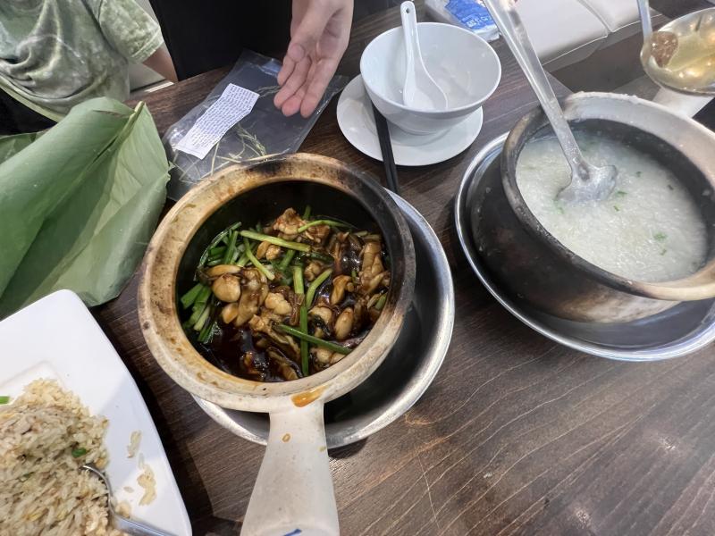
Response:
[{"label": "dark brown wooden table under the dishes", "polygon": [[[353,31],[341,71],[357,73],[370,38],[397,13]],[[715,534],[713,350],[627,364],[563,348],[518,322],[476,280],[452,224],[452,200],[480,147],[535,105],[505,46],[501,85],[473,147],[449,162],[400,168],[403,196],[450,259],[457,321],[425,396],[368,440],[332,451],[342,533]],[[147,97],[160,132],[221,79],[214,71]],[[567,89],[556,84],[560,94]],[[335,101],[301,150],[382,177],[341,136]],[[209,419],[159,368],[142,339],[136,278],[98,321],[156,421],[195,534],[235,534],[263,448]]]}]

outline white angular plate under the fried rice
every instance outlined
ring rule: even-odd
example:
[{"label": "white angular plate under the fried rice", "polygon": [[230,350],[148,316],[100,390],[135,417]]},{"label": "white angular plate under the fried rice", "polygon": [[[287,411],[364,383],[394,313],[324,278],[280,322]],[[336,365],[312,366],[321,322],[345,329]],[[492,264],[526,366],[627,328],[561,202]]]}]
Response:
[{"label": "white angular plate under the fried rice", "polygon": [[[190,536],[186,507],[144,399],[80,297],[60,290],[0,322],[0,356],[0,395],[15,398],[30,381],[54,379],[78,395],[93,415],[109,419],[106,473],[117,499],[130,503],[132,518]],[[139,454],[127,457],[135,430],[141,431],[139,453],[156,477],[156,499],[141,507]]]}]

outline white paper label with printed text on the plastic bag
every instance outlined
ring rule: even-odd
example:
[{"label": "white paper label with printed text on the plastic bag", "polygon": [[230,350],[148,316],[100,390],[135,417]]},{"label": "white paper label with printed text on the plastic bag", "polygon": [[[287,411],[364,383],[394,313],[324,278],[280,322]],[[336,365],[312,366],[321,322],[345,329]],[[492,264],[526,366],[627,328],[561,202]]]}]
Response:
[{"label": "white paper label with printed text on the plastic bag", "polygon": [[189,155],[204,158],[211,147],[214,147],[233,125],[251,112],[258,96],[250,89],[229,84],[175,148]]}]

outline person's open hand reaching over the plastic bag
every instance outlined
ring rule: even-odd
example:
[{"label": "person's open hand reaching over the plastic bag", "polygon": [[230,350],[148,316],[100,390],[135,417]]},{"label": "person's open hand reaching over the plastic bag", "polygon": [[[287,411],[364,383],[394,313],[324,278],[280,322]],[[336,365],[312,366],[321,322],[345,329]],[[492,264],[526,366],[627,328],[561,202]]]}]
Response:
[{"label": "person's open hand reaching over the plastic bag", "polygon": [[352,0],[293,0],[290,45],[273,103],[285,115],[308,117],[323,98],[348,46]]}]

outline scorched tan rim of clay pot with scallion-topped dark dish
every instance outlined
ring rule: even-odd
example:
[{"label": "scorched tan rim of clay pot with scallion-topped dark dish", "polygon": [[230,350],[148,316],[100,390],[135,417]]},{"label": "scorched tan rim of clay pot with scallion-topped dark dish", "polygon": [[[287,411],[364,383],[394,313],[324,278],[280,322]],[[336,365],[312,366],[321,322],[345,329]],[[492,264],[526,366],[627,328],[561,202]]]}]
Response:
[{"label": "scorched tan rim of clay pot with scallion-topped dark dish", "polygon": [[[391,288],[380,318],[366,339],[340,362],[299,380],[250,381],[209,363],[186,337],[177,309],[177,273],[190,240],[212,214],[254,188],[286,181],[315,182],[337,189],[363,205],[378,225],[381,218],[391,219],[401,247],[391,255],[402,255],[404,269],[396,274],[392,264]],[[231,166],[202,180],[164,216],[141,266],[139,322],[156,361],[184,389],[227,408],[273,411],[287,404],[306,406],[317,399],[338,397],[372,373],[400,333],[414,284],[415,252],[408,224],[376,180],[326,156],[270,156]]]}]

